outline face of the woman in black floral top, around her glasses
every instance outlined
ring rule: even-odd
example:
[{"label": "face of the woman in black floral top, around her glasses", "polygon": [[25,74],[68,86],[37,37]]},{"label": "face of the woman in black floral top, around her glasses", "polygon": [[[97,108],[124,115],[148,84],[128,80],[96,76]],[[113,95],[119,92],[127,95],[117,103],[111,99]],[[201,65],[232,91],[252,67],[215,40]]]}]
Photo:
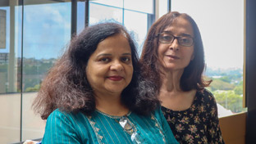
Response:
[{"label": "face of the woman in black floral top, around her glasses", "polygon": [[[176,18],[173,23],[164,29],[167,33],[176,37],[192,37],[194,38],[194,32],[190,21],[185,20],[182,17]],[[183,70],[190,61],[194,58],[194,45],[182,46],[175,38],[172,43],[158,42],[158,60],[162,65],[162,68],[167,71]]]}]

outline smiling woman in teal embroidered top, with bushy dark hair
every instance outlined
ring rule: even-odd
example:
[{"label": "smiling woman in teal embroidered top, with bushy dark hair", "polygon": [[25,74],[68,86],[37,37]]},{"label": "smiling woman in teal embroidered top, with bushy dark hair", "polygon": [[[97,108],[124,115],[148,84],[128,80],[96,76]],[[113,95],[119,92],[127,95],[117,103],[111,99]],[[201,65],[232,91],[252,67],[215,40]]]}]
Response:
[{"label": "smiling woman in teal embroidered top, with bushy dark hair", "polygon": [[34,110],[42,143],[178,143],[139,76],[135,43],[121,25],[90,26],[43,80]]}]

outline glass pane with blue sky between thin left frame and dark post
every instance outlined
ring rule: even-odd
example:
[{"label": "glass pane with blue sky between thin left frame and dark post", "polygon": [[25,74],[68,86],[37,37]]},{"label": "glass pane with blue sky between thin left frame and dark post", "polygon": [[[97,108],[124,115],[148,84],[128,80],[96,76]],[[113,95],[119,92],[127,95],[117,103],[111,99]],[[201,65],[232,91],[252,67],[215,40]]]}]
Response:
[{"label": "glass pane with blue sky between thin left frame and dark post", "polygon": [[31,4],[25,0],[23,29],[22,141],[25,141],[43,137],[45,121],[34,115],[31,104],[44,75],[71,38],[71,2],[42,0],[40,4]]}]

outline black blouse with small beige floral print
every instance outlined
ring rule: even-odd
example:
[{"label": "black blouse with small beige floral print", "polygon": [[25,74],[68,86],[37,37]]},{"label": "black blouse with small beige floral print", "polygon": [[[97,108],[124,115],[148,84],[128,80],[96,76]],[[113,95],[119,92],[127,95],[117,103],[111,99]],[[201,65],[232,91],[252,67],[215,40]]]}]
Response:
[{"label": "black blouse with small beige floral print", "polygon": [[178,142],[224,143],[217,117],[217,104],[208,90],[196,92],[188,110],[173,111],[162,106],[162,112]]}]

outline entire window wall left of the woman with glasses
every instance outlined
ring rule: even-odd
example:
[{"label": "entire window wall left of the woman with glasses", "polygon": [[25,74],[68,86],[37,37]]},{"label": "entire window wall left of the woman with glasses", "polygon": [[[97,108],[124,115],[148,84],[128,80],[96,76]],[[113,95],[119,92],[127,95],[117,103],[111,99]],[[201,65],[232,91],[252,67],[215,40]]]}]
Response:
[{"label": "entire window wall left of the woman with glasses", "polygon": [[[120,23],[142,46],[154,20],[153,1],[128,1],[89,1],[89,25]],[[1,0],[0,143],[43,137],[45,121],[34,115],[31,104],[45,74],[67,47],[71,31],[85,28],[86,2],[74,2]],[[76,16],[75,23],[71,16]]]}]

